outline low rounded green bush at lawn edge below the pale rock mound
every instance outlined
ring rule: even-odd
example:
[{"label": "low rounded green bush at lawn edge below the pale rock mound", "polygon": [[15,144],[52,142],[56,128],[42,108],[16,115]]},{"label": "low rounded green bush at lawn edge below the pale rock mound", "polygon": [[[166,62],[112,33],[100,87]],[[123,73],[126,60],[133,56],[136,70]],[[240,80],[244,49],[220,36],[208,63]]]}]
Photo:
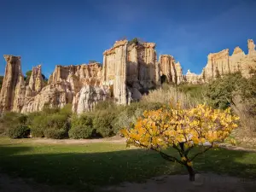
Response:
[{"label": "low rounded green bush at lawn edge below the pale rock mound", "polygon": [[74,139],[90,138],[96,132],[91,125],[72,126],[68,131],[68,136]]}]

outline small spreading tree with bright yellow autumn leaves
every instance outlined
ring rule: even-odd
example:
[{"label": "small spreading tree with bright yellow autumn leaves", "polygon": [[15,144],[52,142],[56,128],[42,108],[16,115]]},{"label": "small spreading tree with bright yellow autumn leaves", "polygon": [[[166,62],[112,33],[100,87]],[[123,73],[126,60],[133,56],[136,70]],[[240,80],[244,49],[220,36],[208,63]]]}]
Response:
[{"label": "small spreading tree with bright yellow autumn leaves", "polygon": [[[133,144],[149,148],[158,152],[164,159],[185,166],[189,172],[189,180],[195,181],[192,166],[195,157],[210,148],[218,147],[218,143],[223,142],[237,127],[238,119],[230,113],[230,108],[221,111],[200,104],[195,108],[183,109],[177,103],[175,107],[145,111],[143,117],[121,132],[127,138],[128,146]],[[201,146],[203,150],[189,155],[191,149],[196,146]],[[164,152],[164,149],[170,147],[177,150],[180,158]]]}]

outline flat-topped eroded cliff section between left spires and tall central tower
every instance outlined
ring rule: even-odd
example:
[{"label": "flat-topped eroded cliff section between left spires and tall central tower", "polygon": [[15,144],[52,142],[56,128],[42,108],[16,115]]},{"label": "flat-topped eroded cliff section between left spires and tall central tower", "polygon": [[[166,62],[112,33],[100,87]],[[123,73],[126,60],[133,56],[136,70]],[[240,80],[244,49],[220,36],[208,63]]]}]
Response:
[{"label": "flat-topped eroded cliff section between left spires and tall central tower", "polygon": [[[84,85],[101,85],[102,67],[100,63],[82,64],[78,66],[56,66],[49,77],[48,85],[37,96],[29,98],[22,113],[40,111],[44,106],[62,108],[73,103],[73,111],[78,102],[77,95]],[[86,111],[87,109],[84,109]],[[90,108],[89,108],[90,110]]]}]

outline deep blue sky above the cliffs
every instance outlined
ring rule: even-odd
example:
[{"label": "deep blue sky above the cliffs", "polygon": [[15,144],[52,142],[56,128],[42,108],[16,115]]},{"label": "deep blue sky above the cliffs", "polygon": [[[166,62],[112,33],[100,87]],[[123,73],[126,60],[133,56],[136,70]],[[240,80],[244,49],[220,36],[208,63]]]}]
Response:
[{"label": "deep blue sky above the cliffs", "polygon": [[1,0],[0,74],[3,55],[20,55],[22,71],[43,65],[102,62],[102,52],[120,38],[157,44],[174,55],[183,73],[201,73],[210,52],[256,41],[254,0]]}]

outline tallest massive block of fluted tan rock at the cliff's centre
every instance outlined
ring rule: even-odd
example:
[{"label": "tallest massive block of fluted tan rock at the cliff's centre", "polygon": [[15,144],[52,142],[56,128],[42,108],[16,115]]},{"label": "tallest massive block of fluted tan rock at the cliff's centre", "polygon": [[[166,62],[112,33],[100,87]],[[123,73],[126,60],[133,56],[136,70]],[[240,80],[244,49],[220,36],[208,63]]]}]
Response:
[{"label": "tallest massive block of fluted tan rock at the cliff's centre", "polygon": [[122,40],[103,53],[102,84],[109,86],[115,102],[128,104],[141,96],[138,92],[160,84],[154,48],[153,43],[135,44]]}]

